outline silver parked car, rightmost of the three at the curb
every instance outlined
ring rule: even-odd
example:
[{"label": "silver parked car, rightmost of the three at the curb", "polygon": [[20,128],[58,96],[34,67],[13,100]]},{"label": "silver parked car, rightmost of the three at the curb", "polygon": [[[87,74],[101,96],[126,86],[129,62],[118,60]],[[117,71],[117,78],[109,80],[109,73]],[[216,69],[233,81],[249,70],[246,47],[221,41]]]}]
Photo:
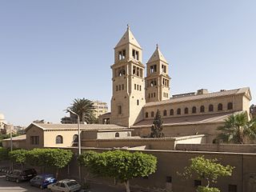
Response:
[{"label": "silver parked car, rightmost of the three at the curb", "polygon": [[47,186],[50,191],[61,192],[77,192],[81,190],[81,186],[73,179],[63,179]]}]

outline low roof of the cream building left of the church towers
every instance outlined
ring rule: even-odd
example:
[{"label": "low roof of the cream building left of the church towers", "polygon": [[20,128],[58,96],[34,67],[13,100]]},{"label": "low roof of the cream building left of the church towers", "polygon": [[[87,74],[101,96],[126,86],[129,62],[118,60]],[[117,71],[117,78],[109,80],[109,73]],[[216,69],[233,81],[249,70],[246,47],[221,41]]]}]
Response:
[{"label": "low roof of the cream building left of the church towers", "polygon": [[[34,123],[26,127],[26,131],[32,126],[37,126],[42,130],[78,130],[78,124],[53,124],[53,123]],[[81,130],[126,130],[125,126],[114,124],[80,124]]]}]

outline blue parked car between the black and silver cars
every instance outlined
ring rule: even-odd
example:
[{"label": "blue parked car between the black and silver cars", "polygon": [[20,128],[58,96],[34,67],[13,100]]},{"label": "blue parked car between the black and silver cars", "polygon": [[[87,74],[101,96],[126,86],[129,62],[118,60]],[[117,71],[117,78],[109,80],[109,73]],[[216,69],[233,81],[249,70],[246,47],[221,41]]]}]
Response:
[{"label": "blue parked car between the black and silver cars", "polygon": [[53,174],[38,174],[30,179],[30,186],[38,186],[40,189],[45,189],[48,185],[57,182]]}]

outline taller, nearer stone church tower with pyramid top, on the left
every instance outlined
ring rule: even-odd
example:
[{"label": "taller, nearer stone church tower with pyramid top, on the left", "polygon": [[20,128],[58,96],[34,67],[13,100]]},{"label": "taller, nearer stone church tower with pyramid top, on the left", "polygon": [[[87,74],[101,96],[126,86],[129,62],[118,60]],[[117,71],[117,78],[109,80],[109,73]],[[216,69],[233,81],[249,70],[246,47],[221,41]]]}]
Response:
[{"label": "taller, nearer stone church tower with pyramid top, on the left", "polygon": [[114,47],[111,124],[130,127],[142,120],[142,106],[146,102],[144,68],[142,47],[127,26],[126,33]]}]

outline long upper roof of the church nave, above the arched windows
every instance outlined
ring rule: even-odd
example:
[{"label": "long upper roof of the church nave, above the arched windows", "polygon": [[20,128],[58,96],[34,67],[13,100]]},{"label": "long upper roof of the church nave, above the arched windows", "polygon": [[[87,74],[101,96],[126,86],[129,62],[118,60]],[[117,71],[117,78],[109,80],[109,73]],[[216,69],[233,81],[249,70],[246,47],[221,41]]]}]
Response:
[{"label": "long upper roof of the church nave, above the arched windows", "polygon": [[234,95],[234,94],[246,94],[246,96],[249,99],[251,99],[250,88],[243,87],[243,88],[239,88],[239,89],[235,89],[235,90],[223,90],[223,91],[213,92],[213,93],[209,93],[209,94],[196,94],[196,95],[191,95],[191,96],[170,98],[168,100],[164,100],[161,102],[147,102],[144,107],[166,105],[166,104],[175,103],[175,102],[188,102],[188,101],[199,100],[199,99],[203,99],[203,98],[216,98],[216,97],[222,97],[222,96]]}]

